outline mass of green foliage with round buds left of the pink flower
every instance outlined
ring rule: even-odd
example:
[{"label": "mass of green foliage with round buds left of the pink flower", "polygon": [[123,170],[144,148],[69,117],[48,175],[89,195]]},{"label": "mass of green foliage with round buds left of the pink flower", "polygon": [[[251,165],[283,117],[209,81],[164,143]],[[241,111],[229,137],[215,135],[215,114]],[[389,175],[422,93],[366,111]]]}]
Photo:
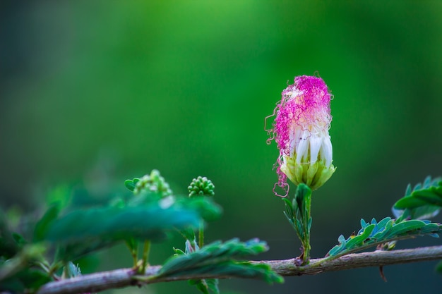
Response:
[{"label": "mass of green foliage with round buds left of the pink flower", "polygon": [[[205,294],[220,293],[217,278],[210,278],[215,275],[282,282],[282,277],[268,265],[235,260],[268,250],[264,242],[230,240],[200,249],[203,221],[216,219],[221,209],[210,198],[203,197],[213,195],[214,186],[210,180],[198,177],[193,184],[196,197],[175,197],[164,178],[154,170],[141,179],[126,180],[126,188],[133,191],[133,196],[127,200],[114,199],[107,206],[62,214],[61,208],[67,202],[56,198],[35,224],[32,243],[9,231],[0,215],[0,290],[34,292],[44,283],[59,278],[61,269],[63,276],[80,276],[80,269],[71,260],[120,242],[125,242],[131,250],[134,266],[142,262],[140,272],[144,272],[150,240],[162,240],[170,231],[179,231],[186,238],[186,250],[175,250],[176,255],[166,262],[158,276],[208,275],[204,279],[189,279],[191,285]],[[200,230],[198,244],[196,229]],[[138,260],[141,243],[145,251],[143,259]],[[48,244],[55,249],[52,264],[43,257],[48,252]]]}]

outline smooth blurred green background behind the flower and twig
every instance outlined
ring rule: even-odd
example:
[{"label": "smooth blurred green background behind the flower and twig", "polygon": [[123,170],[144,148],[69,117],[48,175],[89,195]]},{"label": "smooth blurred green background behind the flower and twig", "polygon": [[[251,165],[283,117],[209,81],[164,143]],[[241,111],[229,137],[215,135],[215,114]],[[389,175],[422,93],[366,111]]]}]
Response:
[{"label": "smooth blurred green background behind the flower and twig", "polygon": [[[35,212],[60,184],[98,202],[152,169],[178,193],[208,176],[225,210],[208,242],[258,237],[270,245],[258,258],[297,256],[272,192],[278,152],[265,144],[264,118],[287,81],[318,71],[334,95],[338,166],[313,194],[311,254],[322,257],[361,217],[390,216],[407,183],[442,175],[441,15],[441,1],[2,1],[1,207]],[[182,247],[176,241],[155,245],[153,264]],[[129,267],[119,252],[101,252],[91,268]],[[431,293],[442,279],[435,264],[387,267],[388,283],[370,268],[220,287]],[[182,282],[112,293],[197,290]]]}]

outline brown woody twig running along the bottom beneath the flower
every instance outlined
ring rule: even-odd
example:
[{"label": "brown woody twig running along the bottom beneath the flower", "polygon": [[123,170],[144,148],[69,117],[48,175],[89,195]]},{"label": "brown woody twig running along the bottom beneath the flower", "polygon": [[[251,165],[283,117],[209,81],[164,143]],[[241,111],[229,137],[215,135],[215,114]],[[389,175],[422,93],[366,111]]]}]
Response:
[{"label": "brown woody twig running along the bottom beneath the flower", "polygon": [[[304,274],[320,274],[325,271],[342,271],[362,267],[383,267],[390,264],[404,264],[409,262],[423,262],[427,260],[442,259],[442,246],[420,247],[415,249],[392,250],[354,253],[339,257],[338,259],[311,259],[310,264],[298,267],[295,259],[266,260],[253,263],[268,264],[281,276],[301,276]],[[160,266],[146,269],[144,275],[137,274],[136,269],[117,269],[96,274],[86,274],[61,281],[45,284],[37,294],[61,293],[88,293],[99,292],[112,288],[139,286],[148,283],[187,280],[190,278],[232,278],[232,276],[211,276],[200,274],[198,276],[159,277],[154,278],[160,271]]]}]

